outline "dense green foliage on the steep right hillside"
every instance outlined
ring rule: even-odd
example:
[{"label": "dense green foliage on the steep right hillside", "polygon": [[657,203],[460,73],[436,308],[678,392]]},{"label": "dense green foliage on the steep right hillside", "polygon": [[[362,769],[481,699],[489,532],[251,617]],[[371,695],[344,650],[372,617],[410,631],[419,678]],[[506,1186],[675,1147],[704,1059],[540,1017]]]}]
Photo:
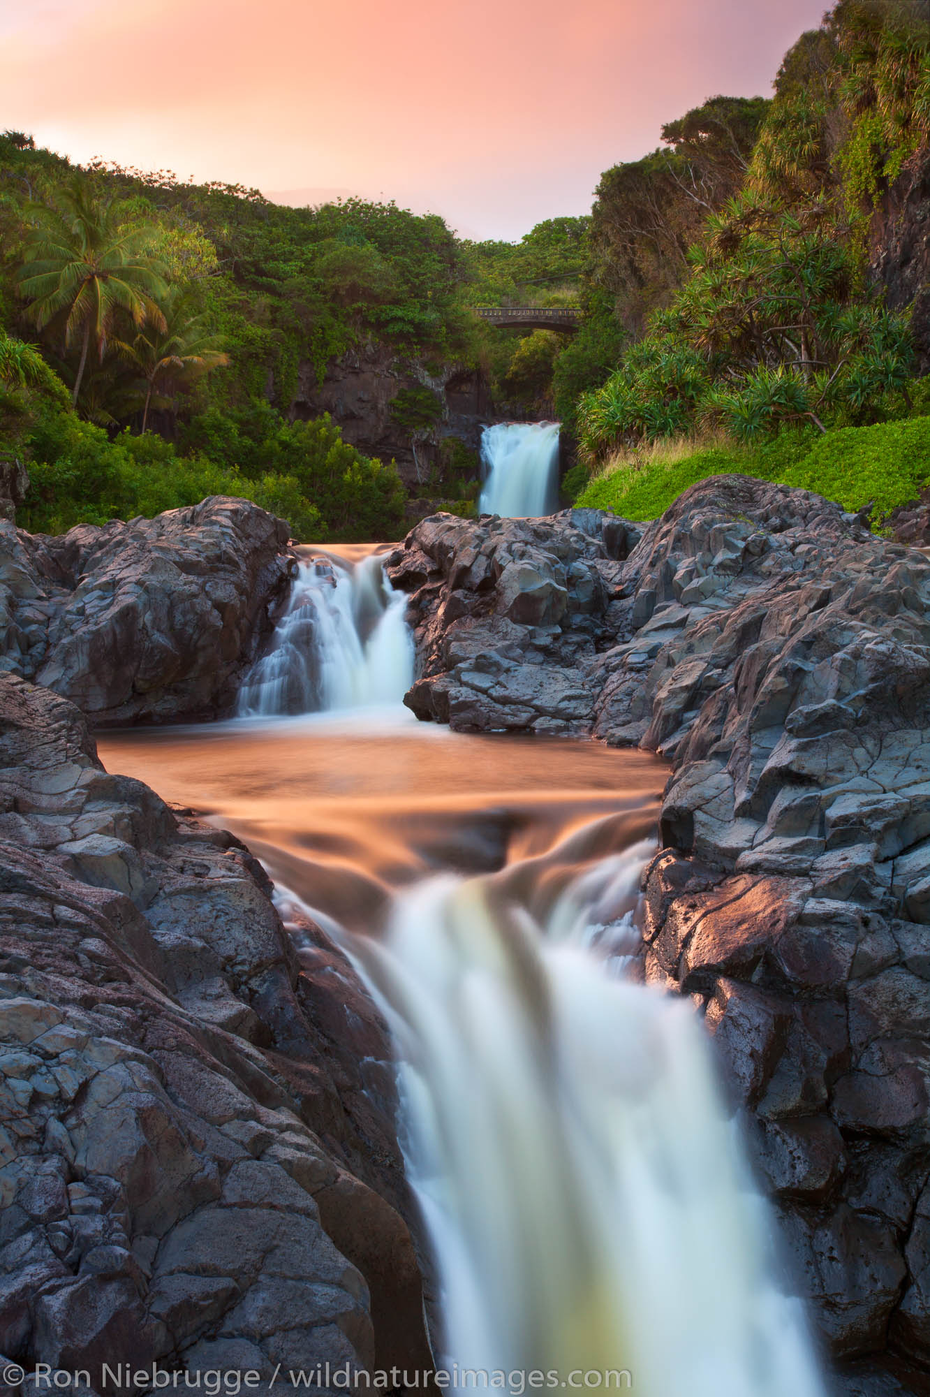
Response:
[{"label": "dense green foliage on the steep right hillside", "polygon": [[[723,99],[701,110],[715,105]],[[722,203],[707,200],[712,211],[687,251],[687,221],[669,204],[686,182],[669,168],[669,198],[655,182],[652,198],[644,193],[658,154],[602,180],[592,219],[599,275],[617,286],[621,310],[645,286],[660,309],[603,387],[580,402],[582,458],[592,465],[640,441],[704,429],[751,443],[786,423],[824,432],[910,412],[909,317],[890,313],[870,288],[864,233],[881,191],[922,141],[926,149],[924,7],[841,0],[786,56],[771,105],[726,109],[741,124],[707,187],[715,176],[718,193],[737,183]],[[683,144],[694,147],[697,116],[665,127],[666,140],[677,137],[676,159]],[[700,168],[700,154],[683,158]],[[652,237],[624,243],[631,221],[645,224],[647,205]],[[651,279],[642,247],[655,251]]]}]

